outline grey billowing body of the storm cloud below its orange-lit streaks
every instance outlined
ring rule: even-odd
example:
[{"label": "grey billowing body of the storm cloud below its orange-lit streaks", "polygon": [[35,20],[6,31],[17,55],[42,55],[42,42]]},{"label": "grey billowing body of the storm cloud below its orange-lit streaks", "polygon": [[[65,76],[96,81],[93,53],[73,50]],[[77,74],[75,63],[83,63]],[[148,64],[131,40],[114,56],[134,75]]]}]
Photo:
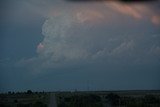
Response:
[{"label": "grey billowing body of the storm cloud below its orange-lit streaks", "polygon": [[[81,16],[77,15],[79,11]],[[33,68],[38,66],[40,70],[99,61],[127,64],[159,62],[159,32],[145,23],[146,20],[124,19],[122,15],[113,13],[114,19],[110,21],[102,20],[97,24],[95,18],[87,23],[86,20],[97,14],[87,17],[88,13],[79,11],[66,9],[49,15],[42,26],[44,38],[38,46],[37,57],[23,60],[21,64],[31,64]],[[152,37],[154,34],[157,36]]]}]

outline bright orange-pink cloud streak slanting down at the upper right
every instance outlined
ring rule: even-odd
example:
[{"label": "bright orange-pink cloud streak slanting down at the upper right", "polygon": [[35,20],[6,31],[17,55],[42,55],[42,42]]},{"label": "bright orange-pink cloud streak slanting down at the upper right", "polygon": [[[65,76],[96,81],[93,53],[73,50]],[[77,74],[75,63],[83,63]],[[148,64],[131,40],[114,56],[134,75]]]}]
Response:
[{"label": "bright orange-pink cloud streak slanting down at the upper right", "polygon": [[160,15],[149,4],[124,4],[120,2],[105,3],[109,9],[135,19],[147,19],[155,25],[160,25]]}]

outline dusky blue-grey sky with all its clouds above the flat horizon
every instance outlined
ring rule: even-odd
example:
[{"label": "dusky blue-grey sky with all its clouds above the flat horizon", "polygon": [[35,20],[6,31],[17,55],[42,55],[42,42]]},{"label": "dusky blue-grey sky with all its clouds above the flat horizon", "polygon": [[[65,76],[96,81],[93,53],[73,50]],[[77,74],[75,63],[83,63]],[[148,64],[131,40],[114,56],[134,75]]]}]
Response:
[{"label": "dusky blue-grey sky with all its clouds above the flat horizon", "polygon": [[160,0],[0,5],[0,92],[160,89]]}]

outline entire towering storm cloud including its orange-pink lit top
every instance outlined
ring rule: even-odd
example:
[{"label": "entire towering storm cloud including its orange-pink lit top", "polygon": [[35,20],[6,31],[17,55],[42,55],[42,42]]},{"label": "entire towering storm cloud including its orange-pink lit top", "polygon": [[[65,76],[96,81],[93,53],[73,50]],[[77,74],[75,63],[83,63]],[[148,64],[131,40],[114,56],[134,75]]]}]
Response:
[{"label": "entire towering storm cloud including its orange-pink lit top", "polygon": [[44,68],[96,61],[159,63],[160,11],[156,2],[64,1],[57,3],[61,8],[47,2],[50,7],[42,26],[44,38],[37,46],[38,55],[25,63]]}]

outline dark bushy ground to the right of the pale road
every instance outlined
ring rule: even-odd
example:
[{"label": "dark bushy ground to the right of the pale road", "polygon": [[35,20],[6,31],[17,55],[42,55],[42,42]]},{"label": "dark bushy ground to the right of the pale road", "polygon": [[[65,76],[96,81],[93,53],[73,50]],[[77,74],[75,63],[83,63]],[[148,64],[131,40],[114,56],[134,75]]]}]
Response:
[{"label": "dark bushy ground to the right of the pale road", "polygon": [[66,92],[58,107],[160,107],[159,92]]}]

